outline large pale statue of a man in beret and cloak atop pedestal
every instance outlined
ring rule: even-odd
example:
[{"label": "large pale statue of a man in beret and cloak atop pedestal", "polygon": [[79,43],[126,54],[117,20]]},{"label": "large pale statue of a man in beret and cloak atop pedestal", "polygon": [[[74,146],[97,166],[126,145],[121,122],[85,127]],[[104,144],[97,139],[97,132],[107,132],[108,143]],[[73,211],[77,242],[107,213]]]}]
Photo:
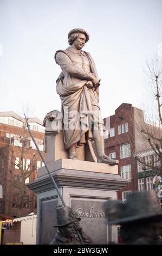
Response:
[{"label": "large pale statue of a man in beret and cloak atop pedestal", "polygon": [[[81,50],[88,40],[87,31],[72,29],[68,33],[70,46],[55,53],[55,61],[62,70],[56,81],[56,91],[62,103],[64,145],[69,158],[77,160],[76,147],[87,142],[93,161],[114,165],[118,160],[105,155],[98,73],[90,54]],[[90,147],[92,138],[97,160]]]}]

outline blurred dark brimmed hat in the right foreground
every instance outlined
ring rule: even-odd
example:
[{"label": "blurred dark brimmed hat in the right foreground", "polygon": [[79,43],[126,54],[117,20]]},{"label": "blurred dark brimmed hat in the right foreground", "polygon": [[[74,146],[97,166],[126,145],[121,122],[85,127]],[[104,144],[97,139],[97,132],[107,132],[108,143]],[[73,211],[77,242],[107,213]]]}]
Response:
[{"label": "blurred dark brimmed hat in the right foreground", "polygon": [[154,190],[128,194],[126,203],[109,200],[104,204],[108,224],[162,220],[162,211]]}]

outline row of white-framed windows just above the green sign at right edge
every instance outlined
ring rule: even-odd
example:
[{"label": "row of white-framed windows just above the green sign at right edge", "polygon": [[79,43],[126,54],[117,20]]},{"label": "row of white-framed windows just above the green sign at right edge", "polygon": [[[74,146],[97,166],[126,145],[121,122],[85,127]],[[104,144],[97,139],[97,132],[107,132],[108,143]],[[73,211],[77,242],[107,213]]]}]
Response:
[{"label": "row of white-framed windows just above the green sign at right edge", "polygon": [[138,161],[137,165],[138,172],[142,172],[144,169],[151,169],[152,166],[161,166],[158,155],[148,155],[145,157],[140,157],[140,161],[141,162]]}]

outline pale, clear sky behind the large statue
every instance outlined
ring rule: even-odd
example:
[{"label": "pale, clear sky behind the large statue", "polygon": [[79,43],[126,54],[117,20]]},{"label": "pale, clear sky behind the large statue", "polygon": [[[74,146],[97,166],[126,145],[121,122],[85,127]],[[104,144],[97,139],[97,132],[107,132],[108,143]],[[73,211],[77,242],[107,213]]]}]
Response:
[{"label": "pale, clear sky behind the large statue", "polygon": [[0,0],[0,112],[61,109],[54,54],[73,28],[90,34],[83,50],[101,79],[102,117],[123,102],[142,108],[146,60],[162,56],[161,13],[161,0]]}]

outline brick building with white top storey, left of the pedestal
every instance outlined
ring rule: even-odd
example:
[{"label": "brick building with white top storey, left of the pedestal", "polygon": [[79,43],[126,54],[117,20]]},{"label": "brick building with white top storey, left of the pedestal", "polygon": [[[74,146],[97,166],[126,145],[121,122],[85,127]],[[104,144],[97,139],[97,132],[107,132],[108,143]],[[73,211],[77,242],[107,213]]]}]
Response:
[{"label": "brick building with white top storey, left of the pedestal", "polygon": [[[12,111],[0,112],[0,184],[3,186],[0,213],[13,217],[18,216],[17,204],[23,180],[25,179],[24,184],[33,181],[37,177],[37,168],[42,166],[28,129],[24,127],[24,121],[20,115]],[[28,122],[38,147],[43,151],[44,127],[41,120],[30,118]],[[33,191],[26,186],[25,191],[23,216],[30,212],[36,213],[37,208],[37,200]]]}]

